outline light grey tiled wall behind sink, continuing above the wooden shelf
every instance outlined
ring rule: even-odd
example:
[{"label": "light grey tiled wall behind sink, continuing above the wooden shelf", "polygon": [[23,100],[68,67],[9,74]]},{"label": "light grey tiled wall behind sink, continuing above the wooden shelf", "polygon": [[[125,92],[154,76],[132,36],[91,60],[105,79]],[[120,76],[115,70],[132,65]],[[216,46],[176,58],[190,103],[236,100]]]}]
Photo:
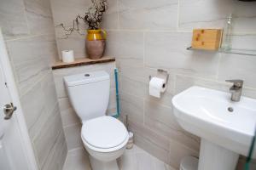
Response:
[{"label": "light grey tiled wall behind sink, continuing above the wooden shelf", "polygon": [[[65,3],[64,3],[65,2]],[[51,0],[55,25],[71,26],[76,14],[83,14],[90,0]],[[199,85],[228,91],[225,79],[245,81],[243,94],[256,98],[256,57],[188,51],[193,28],[224,27],[230,13],[235,16],[234,48],[255,49],[256,3],[237,0],[108,0],[103,28],[108,31],[106,54],[116,57],[119,67],[121,111],[129,116],[135,142],[144,150],[178,167],[183,156],[198,156],[200,139],[186,133],[172,115],[172,96]],[[86,28],[86,26],[84,26]],[[59,50],[77,49],[84,56],[84,37],[74,34],[59,39]],[[148,76],[156,69],[170,74],[161,99],[148,95]],[[242,161],[242,160],[241,160]]]}]

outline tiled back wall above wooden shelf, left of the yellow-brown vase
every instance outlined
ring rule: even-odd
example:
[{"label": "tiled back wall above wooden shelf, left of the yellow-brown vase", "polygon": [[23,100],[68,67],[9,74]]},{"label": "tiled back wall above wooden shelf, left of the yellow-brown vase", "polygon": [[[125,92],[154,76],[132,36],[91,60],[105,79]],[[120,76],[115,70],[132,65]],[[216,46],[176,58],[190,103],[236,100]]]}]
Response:
[{"label": "tiled back wall above wooden shelf, left of the yellow-brown vase", "polygon": [[[55,35],[56,42],[58,47],[59,59],[61,59],[61,51],[67,49],[73,49],[75,58],[83,58],[86,56],[85,51],[85,32],[84,30],[87,26],[83,21],[80,22],[81,33],[84,36],[79,35],[74,32],[73,35],[68,37],[67,39],[63,39],[65,37],[63,29],[58,26],[63,23],[67,27],[73,26],[73,20],[76,18],[78,14],[84,14],[85,10],[89,8],[90,1],[71,1],[71,0],[50,0],[52,13],[54,16],[55,23]],[[71,9],[75,10],[71,10]]]}]

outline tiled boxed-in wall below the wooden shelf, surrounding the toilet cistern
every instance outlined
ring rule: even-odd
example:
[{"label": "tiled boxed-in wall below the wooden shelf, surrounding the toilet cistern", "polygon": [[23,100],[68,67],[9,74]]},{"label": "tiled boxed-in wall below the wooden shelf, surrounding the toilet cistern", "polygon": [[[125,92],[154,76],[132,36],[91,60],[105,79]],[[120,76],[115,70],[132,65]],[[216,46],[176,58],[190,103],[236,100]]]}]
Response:
[{"label": "tiled boxed-in wall below the wooden shelf, surrounding the toilet cistern", "polygon": [[[105,63],[105,64],[96,64],[96,65],[84,65],[73,68],[64,68],[54,70],[55,78],[55,88],[57,92],[57,97],[59,101],[61,118],[62,118],[62,127],[64,128],[65,137],[67,140],[67,149],[73,150],[84,147],[84,144],[81,139],[81,122],[79,116],[73,111],[73,107],[70,104],[70,101],[67,96],[67,89],[63,82],[63,77],[67,77],[74,74],[82,74],[90,71],[107,71],[110,75],[110,96],[108,104],[108,114],[111,115],[116,111],[116,102],[115,102],[115,84],[114,84],[114,75],[113,69],[115,67],[114,62]],[[84,104],[86,105],[86,104]]]}]

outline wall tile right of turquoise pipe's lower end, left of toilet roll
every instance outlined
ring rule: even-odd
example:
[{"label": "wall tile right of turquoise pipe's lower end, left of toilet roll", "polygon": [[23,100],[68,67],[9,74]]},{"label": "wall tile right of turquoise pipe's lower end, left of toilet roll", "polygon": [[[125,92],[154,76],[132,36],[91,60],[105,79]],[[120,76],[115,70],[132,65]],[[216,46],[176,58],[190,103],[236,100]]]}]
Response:
[{"label": "wall tile right of turquoise pipe's lower end, left of toilet roll", "polygon": [[143,99],[131,94],[120,94],[120,111],[122,115],[128,115],[129,120],[143,122]]}]

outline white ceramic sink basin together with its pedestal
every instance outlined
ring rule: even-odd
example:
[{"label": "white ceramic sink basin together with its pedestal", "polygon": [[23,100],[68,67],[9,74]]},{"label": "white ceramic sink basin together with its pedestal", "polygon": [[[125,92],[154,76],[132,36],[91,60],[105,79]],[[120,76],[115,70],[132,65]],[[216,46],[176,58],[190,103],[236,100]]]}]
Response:
[{"label": "white ceramic sink basin together with its pedestal", "polygon": [[241,97],[234,102],[228,93],[191,87],[174,96],[172,105],[181,127],[201,137],[199,170],[234,170],[239,154],[247,156],[256,99]]}]

